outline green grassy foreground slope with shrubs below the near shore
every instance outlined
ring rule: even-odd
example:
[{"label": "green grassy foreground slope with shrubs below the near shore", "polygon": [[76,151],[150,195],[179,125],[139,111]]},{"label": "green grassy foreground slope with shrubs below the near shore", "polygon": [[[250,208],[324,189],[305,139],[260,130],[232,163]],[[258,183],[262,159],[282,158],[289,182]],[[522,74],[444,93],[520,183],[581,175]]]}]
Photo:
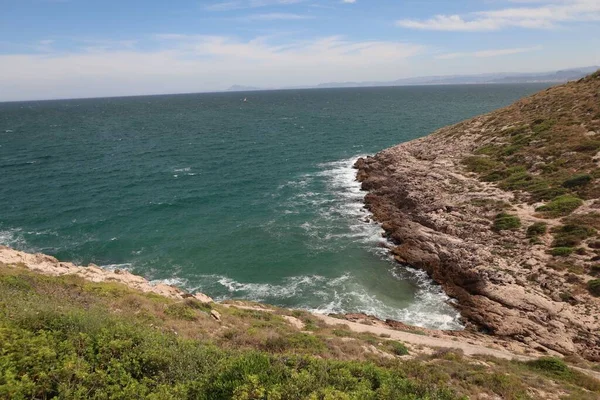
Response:
[{"label": "green grassy foreground slope with shrubs below the near shore", "polygon": [[331,328],[301,311],[177,302],[0,265],[0,398],[600,398],[600,382],[554,359],[405,353],[401,343]]}]

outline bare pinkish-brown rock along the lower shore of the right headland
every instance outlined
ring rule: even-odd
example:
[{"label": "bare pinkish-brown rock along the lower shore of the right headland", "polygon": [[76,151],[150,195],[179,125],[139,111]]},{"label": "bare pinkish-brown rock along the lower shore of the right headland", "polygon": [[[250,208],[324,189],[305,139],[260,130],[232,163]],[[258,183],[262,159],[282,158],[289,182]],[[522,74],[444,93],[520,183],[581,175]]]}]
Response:
[{"label": "bare pinkish-brown rock along the lower shore of the right headland", "polygon": [[[592,277],[549,268],[551,238],[532,244],[523,229],[498,232],[492,222],[498,204],[507,204],[523,224],[552,226],[558,220],[540,219],[534,205],[482,181],[461,163],[495,131],[507,129],[498,122],[506,113],[476,117],[359,159],[365,207],[382,224],[394,258],[425,270],[457,300],[469,332],[599,361],[598,299],[580,290]],[[589,211],[591,203],[577,212]],[[567,291],[569,301],[562,295]]]}]

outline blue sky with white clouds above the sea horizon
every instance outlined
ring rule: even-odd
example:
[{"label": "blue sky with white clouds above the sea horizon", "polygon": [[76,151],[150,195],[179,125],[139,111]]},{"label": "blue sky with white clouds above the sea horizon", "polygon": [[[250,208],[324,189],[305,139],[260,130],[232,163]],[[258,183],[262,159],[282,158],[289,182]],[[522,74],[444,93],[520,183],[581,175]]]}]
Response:
[{"label": "blue sky with white clouds above the sea horizon", "polygon": [[600,65],[600,0],[0,0],[0,101]]}]

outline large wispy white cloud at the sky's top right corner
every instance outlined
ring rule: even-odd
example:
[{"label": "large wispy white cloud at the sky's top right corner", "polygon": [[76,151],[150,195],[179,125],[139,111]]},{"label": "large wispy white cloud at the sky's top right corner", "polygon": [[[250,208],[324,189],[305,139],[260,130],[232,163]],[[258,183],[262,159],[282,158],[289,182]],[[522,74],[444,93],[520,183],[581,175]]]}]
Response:
[{"label": "large wispy white cloud at the sky's top right corner", "polygon": [[511,7],[479,11],[465,15],[435,15],[425,20],[402,19],[398,26],[439,31],[495,31],[508,27],[548,29],[562,23],[600,21],[600,0],[543,0],[518,3],[536,3],[533,7]]}]

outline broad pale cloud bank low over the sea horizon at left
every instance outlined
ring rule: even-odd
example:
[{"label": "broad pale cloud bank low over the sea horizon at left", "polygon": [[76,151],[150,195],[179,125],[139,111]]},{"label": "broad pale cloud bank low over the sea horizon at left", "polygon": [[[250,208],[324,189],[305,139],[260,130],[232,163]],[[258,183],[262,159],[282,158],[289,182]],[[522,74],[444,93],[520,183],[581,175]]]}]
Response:
[{"label": "broad pale cloud bank low over the sea horizon at left", "polygon": [[[274,44],[268,38],[154,36],[154,51],[127,47],[67,54],[0,55],[0,101],[182,93],[239,83],[261,87],[396,79],[422,46],[340,36]],[[147,45],[147,43],[146,43]],[[147,46],[146,46],[147,47]]]}]

